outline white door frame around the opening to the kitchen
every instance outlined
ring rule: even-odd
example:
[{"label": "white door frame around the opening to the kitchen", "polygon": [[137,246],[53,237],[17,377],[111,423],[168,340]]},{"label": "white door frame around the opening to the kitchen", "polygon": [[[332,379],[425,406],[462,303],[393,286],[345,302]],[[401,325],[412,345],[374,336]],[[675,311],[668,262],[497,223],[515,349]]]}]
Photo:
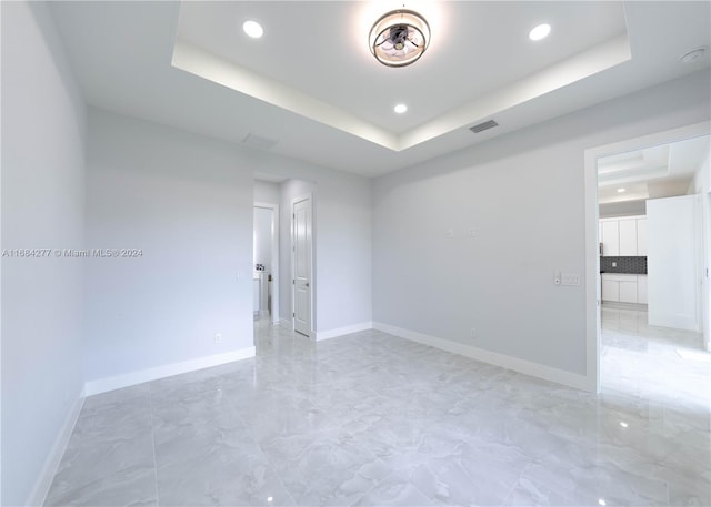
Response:
[{"label": "white door frame around the opening to the kitchen", "polygon": [[[641,150],[659,144],[684,141],[711,134],[711,122],[703,121],[649,135],[628,139],[584,151],[584,231],[585,231],[585,385],[588,391],[600,393],[600,290],[597,283],[600,275],[598,237],[598,159],[627,151]],[[595,283],[591,283],[595,281]]]}]

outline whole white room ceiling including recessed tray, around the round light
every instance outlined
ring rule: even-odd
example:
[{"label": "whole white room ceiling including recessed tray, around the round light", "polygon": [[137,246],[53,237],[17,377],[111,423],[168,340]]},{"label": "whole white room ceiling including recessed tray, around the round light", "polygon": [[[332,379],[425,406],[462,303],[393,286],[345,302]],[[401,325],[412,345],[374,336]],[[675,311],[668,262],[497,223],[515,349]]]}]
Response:
[{"label": "whole white room ceiling including recessed tray, around the round light", "polygon": [[[368,176],[708,69],[709,2],[407,2],[432,27],[409,68],[367,47],[400,2],[52,2],[87,101]],[[244,19],[264,27],[260,40]],[[539,22],[551,36],[528,40]],[[342,58],[344,57],[344,59]],[[409,111],[395,115],[392,107]],[[500,126],[473,134],[469,126]]]}]

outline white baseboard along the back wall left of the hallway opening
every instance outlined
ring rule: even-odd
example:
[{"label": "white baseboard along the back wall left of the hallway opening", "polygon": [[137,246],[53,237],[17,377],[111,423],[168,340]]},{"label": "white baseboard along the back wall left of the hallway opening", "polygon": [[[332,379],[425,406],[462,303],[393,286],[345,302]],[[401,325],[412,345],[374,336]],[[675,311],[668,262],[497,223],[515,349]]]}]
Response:
[{"label": "white baseboard along the back wall left of the hallway opening", "polygon": [[226,352],[223,354],[183,361],[182,363],[167,364],[154,368],[126,373],[123,375],[98,378],[96,381],[87,382],[84,385],[84,393],[87,396],[91,396],[94,394],[106,393],[108,391],[120,389],[121,387],[142,384],[144,382],[157,381],[158,378],[179,375],[181,373],[194,372],[196,369],[219,366],[221,364],[232,363],[233,361],[247,359],[249,357],[254,357],[254,347],[247,347],[239,351]]}]

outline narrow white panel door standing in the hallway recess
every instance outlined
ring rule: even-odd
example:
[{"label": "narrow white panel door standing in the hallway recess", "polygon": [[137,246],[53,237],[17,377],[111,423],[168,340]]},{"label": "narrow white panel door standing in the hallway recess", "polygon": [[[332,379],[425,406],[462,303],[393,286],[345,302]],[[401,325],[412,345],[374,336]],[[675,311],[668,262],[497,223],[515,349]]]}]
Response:
[{"label": "narrow white panel door standing in the hallway recess", "polygon": [[293,328],[311,335],[311,197],[293,202]]}]

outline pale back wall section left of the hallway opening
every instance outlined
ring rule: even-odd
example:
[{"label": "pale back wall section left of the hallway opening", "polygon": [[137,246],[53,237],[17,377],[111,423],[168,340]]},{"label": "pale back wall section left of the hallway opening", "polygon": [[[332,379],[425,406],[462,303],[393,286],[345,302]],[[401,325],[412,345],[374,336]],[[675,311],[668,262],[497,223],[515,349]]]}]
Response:
[{"label": "pale back wall section left of the hallway opening", "polygon": [[239,150],[91,109],[87,166],[89,246],[142,251],[88,262],[87,379],[251,347],[252,171]]}]

